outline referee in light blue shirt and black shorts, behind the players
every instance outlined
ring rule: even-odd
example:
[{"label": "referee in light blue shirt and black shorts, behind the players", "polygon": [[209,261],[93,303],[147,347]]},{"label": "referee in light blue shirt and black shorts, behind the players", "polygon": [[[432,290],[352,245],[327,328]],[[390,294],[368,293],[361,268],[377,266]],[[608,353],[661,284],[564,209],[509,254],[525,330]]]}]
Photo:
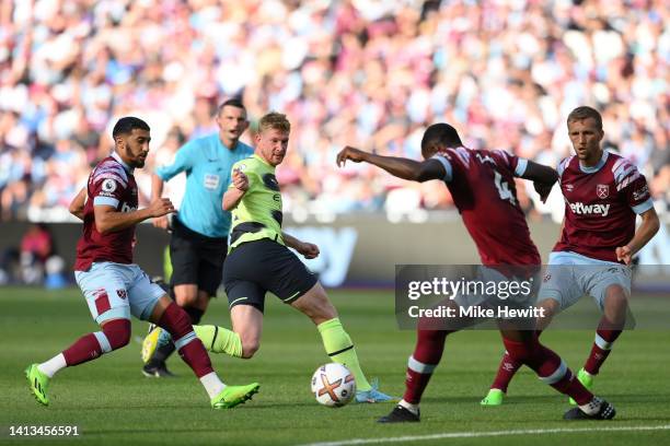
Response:
[{"label": "referee in light blue shirt and black shorts, behind the players", "polygon": [[[183,145],[173,164],[159,167],[152,176],[151,197],[159,198],[163,183],[186,173],[186,190],[180,211],[153,220],[153,225],[172,230],[171,296],[196,325],[205,314],[209,300],[221,283],[223,259],[228,250],[230,213],[222,208],[223,192],[231,181],[234,163],[253,154],[253,148],[240,141],[249,127],[246,109],[238,98],[226,101],[217,110],[219,131]],[[142,373],[149,377],[173,376],[165,360],[174,352],[174,343],[157,349],[160,329],[150,329],[142,343]]]}]

